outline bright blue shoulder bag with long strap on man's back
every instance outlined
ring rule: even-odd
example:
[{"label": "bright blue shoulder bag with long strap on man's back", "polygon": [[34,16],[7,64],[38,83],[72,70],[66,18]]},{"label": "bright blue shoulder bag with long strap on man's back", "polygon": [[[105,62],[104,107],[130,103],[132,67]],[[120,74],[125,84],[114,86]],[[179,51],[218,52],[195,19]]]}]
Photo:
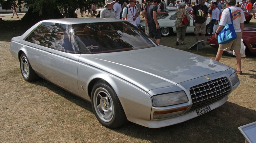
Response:
[{"label": "bright blue shoulder bag with long strap on man's back", "polygon": [[226,44],[237,39],[236,31],[233,26],[232,13],[230,8],[228,9],[229,9],[230,19],[232,24],[226,24],[224,28],[219,32],[219,35],[218,35],[219,44]]}]

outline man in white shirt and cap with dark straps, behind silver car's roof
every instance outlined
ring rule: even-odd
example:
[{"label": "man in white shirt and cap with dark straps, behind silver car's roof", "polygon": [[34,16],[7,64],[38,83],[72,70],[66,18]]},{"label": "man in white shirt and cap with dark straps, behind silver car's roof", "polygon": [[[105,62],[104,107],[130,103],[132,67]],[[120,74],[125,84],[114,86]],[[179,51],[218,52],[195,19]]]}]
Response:
[{"label": "man in white shirt and cap with dark straps, behind silver car's roof", "polygon": [[135,6],[135,2],[136,0],[129,0],[129,5],[123,8],[122,20],[126,20],[129,23],[137,26],[136,18],[139,15],[139,13]]}]

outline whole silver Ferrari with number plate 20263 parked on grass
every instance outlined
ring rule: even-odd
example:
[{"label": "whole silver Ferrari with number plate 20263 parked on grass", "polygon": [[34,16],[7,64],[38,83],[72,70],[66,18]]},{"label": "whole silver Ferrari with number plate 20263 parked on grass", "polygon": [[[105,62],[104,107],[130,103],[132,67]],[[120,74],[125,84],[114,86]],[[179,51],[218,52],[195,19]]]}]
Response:
[{"label": "whole silver Ferrari with number plate 20263 parked on grass", "polygon": [[44,20],[12,38],[10,51],[26,81],[41,77],[91,102],[108,128],[177,124],[221,106],[240,84],[234,69],[117,19]]}]

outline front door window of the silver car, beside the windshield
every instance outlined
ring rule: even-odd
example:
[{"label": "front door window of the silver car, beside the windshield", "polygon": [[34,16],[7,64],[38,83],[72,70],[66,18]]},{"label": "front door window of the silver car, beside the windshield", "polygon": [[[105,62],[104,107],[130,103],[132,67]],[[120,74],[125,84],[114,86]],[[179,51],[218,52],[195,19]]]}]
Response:
[{"label": "front door window of the silver car, beside the windshield", "polygon": [[79,54],[71,25],[56,23],[49,42],[49,48],[72,54]]}]

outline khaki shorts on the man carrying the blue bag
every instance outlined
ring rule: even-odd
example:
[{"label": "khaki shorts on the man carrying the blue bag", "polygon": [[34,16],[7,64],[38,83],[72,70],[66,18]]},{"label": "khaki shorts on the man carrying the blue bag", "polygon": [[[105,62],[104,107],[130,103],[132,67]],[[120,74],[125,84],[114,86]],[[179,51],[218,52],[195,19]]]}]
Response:
[{"label": "khaki shorts on the man carrying the blue bag", "polygon": [[219,49],[223,51],[230,51],[230,50],[240,50],[241,49],[241,39],[242,33],[236,33],[237,39],[227,43],[227,44],[220,44]]}]

